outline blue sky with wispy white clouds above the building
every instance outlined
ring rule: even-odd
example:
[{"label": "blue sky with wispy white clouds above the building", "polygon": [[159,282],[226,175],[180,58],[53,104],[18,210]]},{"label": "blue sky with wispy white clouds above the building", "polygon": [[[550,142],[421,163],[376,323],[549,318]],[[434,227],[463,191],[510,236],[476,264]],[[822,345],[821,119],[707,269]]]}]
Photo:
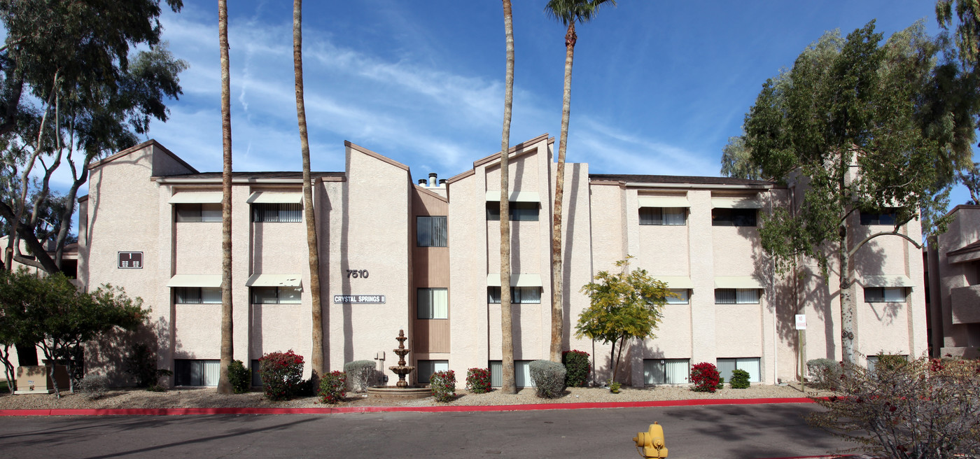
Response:
[{"label": "blue sky with wispy white clouds above the building", "polygon": [[[190,64],[171,119],[150,137],[201,171],[221,170],[217,2],[166,11],[164,38]],[[564,27],[544,0],[514,0],[511,144],[561,127]],[[568,161],[595,173],[717,175],[762,82],[825,30],[872,19],[887,35],[917,1],[620,0],[578,27]],[[234,170],[299,170],[292,2],[228,2]],[[504,25],[499,1],[307,1],[306,106],[313,168],[343,170],[344,140],[449,177],[500,148]],[[953,200],[967,198],[959,189]]]}]

